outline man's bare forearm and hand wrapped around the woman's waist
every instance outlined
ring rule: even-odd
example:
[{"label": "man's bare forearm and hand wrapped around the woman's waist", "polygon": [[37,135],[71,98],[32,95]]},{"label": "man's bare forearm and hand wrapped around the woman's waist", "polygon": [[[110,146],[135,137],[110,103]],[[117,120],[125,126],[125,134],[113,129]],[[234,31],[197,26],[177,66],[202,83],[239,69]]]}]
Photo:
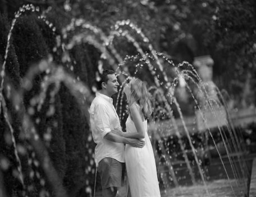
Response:
[{"label": "man's bare forearm and hand wrapped around the woman's waist", "polygon": [[139,139],[128,139],[121,137],[119,135],[113,134],[112,132],[109,132],[104,136],[104,139],[107,139],[109,141],[113,141],[115,143],[122,143],[122,144],[129,144],[134,147],[143,148],[145,145],[145,141],[139,140]]}]

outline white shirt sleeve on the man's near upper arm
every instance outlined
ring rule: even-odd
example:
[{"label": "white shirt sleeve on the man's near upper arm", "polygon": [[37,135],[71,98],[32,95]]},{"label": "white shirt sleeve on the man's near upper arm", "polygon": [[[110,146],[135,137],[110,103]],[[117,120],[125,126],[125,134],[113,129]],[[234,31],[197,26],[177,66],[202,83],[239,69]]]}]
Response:
[{"label": "white shirt sleeve on the man's near upper arm", "polygon": [[99,132],[99,135],[102,137],[102,139],[105,135],[111,132],[109,112],[107,106],[105,106],[104,104],[98,103],[97,105],[95,105],[94,123],[95,130]]}]

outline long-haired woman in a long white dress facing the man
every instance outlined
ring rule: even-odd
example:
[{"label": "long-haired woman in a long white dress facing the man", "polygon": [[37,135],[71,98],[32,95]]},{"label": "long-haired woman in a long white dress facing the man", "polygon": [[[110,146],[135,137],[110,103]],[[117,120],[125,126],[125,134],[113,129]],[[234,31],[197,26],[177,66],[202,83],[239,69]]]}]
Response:
[{"label": "long-haired woman in a long white dress facing the man", "polygon": [[147,118],[152,113],[148,90],[143,81],[132,79],[129,84],[126,84],[124,93],[129,112],[126,132],[115,130],[115,133],[125,138],[138,138],[145,141],[143,148],[134,148],[127,144],[125,146],[125,163],[131,196],[161,196],[156,162],[147,133]]}]

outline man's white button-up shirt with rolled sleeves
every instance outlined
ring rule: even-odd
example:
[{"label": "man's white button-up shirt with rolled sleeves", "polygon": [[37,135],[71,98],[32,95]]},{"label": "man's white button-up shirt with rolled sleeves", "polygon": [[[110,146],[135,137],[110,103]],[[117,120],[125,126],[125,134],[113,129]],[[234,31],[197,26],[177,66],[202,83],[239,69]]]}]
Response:
[{"label": "man's white button-up shirt with rolled sleeves", "polygon": [[90,106],[90,125],[95,147],[95,162],[98,164],[105,157],[125,162],[125,145],[104,139],[111,130],[121,128],[113,99],[107,95],[96,93]]}]

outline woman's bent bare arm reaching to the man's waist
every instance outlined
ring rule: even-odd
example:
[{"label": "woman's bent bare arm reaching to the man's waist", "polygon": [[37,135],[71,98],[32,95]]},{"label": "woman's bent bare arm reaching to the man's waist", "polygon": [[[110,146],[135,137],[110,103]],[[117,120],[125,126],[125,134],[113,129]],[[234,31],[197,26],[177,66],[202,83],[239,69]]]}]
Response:
[{"label": "woman's bent bare arm reaching to the man's waist", "polygon": [[116,134],[121,135],[125,138],[145,138],[143,120],[140,115],[139,108],[136,106],[136,104],[133,104],[130,107],[130,116],[132,117],[132,121],[134,121],[134,125],[136,127],[137,132],[118,132]]}]

